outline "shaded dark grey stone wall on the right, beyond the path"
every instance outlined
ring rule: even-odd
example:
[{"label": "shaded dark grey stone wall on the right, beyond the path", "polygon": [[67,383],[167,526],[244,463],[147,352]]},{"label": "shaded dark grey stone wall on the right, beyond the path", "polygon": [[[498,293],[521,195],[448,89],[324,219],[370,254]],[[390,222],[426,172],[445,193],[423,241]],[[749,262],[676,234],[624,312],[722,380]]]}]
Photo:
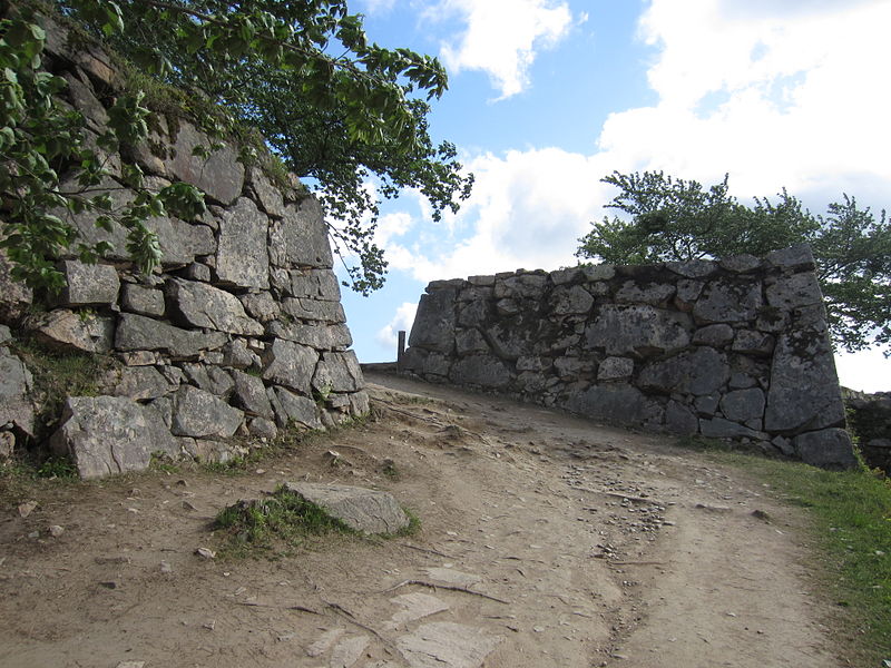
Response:
[{"label": "shaded dark grey stone wall on the right, beyond the path", "polygon": [[403,367],[675,434],[855,463],[810,248],[435,281]]}]

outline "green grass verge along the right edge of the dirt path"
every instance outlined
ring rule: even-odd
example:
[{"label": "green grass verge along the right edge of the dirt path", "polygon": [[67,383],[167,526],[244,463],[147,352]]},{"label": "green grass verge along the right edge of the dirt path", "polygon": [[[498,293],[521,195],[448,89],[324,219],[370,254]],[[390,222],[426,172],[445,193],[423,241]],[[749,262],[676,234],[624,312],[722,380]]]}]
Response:
[{"label": "green grass verge along the right edge of the dirt path", "polygon": [[834,472],[717,450],[709,455],[754,473],[780,500],[804,509],[814,573],[838,612],[826,623],[849,665],[891,659],[891,481],[865,468]]}]

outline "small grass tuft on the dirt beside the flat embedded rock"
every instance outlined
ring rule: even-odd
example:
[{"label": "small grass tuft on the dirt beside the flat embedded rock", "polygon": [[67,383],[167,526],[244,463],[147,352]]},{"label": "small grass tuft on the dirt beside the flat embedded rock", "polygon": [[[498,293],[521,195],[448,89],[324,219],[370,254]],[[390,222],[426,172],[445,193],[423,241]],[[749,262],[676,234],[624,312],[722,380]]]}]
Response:
[{"label": "small grass tuft on the dirt beside the flat embedded rock", "polygon": [[315,503],[280,487],[267,499],[238,501],[224,508],[214,529],[225,536],[222,557],[284,557],[306,546],[311,537],[356,534]]}]

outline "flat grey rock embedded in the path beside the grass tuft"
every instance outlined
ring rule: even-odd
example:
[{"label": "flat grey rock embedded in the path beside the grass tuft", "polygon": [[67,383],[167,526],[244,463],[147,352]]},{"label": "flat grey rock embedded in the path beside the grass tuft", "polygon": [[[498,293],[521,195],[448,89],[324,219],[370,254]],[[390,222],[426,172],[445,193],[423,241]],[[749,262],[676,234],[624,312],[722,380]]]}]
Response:
[{"label": "flat grey rock embedded in the path beside the grass tuft", "polygon": [[355,531],[395,533],[410,523],[409,517],[388,492],[312,482],[286,482],[285,489],[315,503]]}]

